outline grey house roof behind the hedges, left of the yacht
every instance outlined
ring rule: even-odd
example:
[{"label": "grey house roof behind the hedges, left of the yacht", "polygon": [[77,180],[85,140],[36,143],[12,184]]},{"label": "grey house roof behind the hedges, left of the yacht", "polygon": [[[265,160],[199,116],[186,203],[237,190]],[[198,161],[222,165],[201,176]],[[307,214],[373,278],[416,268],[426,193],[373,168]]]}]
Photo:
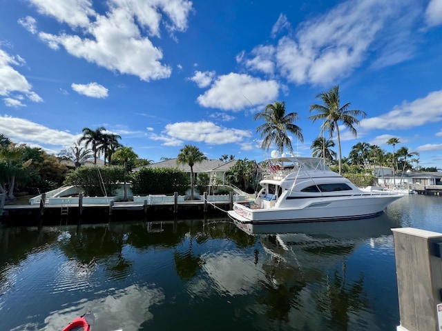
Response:
[{"label": "grey house roof behind the hedges, left of the yacht", "polygon": [[[193,172],[229,171],[235,164],[236,160],[224,162],[221,160],[206,159],[202,162],[195,163],[193,165]],[[177,159],[169,159],[166,161],[143,165],[142,167],[133,169],[133,171],[140,170],[141,168],[177,168],[184,172],[191,172],[189,164],[177,164]]]}]

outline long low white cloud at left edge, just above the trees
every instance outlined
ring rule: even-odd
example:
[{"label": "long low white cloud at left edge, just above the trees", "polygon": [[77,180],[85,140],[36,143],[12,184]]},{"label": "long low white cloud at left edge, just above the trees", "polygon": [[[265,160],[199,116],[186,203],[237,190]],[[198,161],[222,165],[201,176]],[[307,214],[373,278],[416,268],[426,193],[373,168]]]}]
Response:
[{"label": "long low white cloud at left edge, just above the trees", "polygon": [[32,142],[39,145],[71,146],[77,141],[81,134],[70,134],[68,132],[53,130],[41,124],[0,115],[0,132],[6,134],[12,141]]}]

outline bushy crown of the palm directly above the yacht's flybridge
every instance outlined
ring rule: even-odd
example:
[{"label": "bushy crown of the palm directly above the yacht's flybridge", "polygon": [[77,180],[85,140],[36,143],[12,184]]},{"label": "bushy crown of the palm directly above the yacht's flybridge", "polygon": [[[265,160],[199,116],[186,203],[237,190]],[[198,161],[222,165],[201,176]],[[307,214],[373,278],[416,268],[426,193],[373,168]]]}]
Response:
[{"label": "bushy crown of the palm directly above the yacht's flybridge", "polygon": [[261,148],[266,151],[269,150],[271,143],[275,143],[278,146],[280,154],[284,146],[289,148],[290,152],[293,152],[291,147],[291,140],[287,135],[287,132],[293,133],[301,142],[304,141],[300,127],[296,126],[293,122],[299,119],[297,112],[291,112],[285,114],[285,101],[275,101],[265,106],[263,112],[255,114],[253,119],[263,119],[264,124],[256,128],[256,132],[260,132],[261,137],[264,137]]}]

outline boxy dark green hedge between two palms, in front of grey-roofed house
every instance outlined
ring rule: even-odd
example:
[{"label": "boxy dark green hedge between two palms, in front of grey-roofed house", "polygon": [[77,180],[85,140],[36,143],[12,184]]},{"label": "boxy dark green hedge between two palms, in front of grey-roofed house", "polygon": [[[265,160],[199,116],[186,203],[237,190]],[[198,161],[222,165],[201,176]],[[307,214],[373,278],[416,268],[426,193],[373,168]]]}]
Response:
[{"label": "boxy dark green hedge between two palms, in front of grey-roofed house", "polygon": [[133,194],[185,194],[189,188],[189,174],[176,168],[142,168],[133,172]]}]

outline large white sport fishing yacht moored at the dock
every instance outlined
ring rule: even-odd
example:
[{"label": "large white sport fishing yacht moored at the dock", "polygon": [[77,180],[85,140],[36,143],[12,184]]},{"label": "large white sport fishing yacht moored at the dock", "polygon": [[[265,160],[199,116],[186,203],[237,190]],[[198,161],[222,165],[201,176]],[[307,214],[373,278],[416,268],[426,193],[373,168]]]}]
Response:
[{"label": "large white sport fishing yacht moored at the dock", "polygon": [[[274,153],[272,153],[274,156]],[[324,159],[271,157],[254,201],[235,202],[242,223],[298,223],[374,217],[404,194],[361,190],[330,170]]]}]

